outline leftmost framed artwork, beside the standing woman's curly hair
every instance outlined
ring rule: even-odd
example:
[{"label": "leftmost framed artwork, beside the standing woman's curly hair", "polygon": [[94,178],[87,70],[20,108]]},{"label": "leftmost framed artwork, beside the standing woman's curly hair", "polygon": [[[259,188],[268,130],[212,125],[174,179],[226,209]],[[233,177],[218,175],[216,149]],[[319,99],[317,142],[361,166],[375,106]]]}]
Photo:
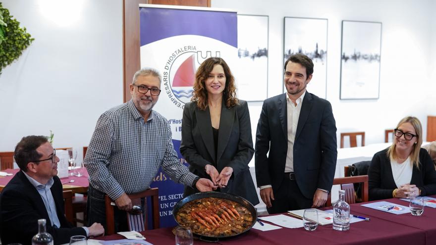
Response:
[{"label": "leftmost framed artwork, beside the standing woman's curly hair", "polygon": [[234,73],[238,98],[268,98],[268,23],[265,15],[238,14],[238,67]]}]

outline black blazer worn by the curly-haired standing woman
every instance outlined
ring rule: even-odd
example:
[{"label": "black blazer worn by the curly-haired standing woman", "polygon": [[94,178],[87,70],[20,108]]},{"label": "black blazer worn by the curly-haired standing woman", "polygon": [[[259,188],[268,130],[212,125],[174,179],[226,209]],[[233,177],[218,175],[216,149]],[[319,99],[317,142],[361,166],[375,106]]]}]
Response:
[{"label": "black blazer worn by the curly-haired standing woman", "polygon": [[[233,174],[227,187],[220,191],[242,196],[253,205],[259,203],[248,167],[254,149],[246,101],[239,100],[236,106],[227,108],[223,100],[217,154],[209,108],[200,110],[197,102],[186,103],[183,110],[180,153],[190,164],[189,170],[202,178],[210,179],[204,170],[207,164],[216,166],[218,172],[224,167],[232,167]],[[190,187],[185,188],[185,196],[195,192],[197,191]]]}]

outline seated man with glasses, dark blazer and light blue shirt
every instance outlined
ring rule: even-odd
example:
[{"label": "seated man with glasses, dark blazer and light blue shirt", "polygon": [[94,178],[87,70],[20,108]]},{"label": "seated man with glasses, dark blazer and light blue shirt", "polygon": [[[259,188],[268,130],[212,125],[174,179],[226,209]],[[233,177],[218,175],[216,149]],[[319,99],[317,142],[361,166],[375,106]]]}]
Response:
[{"label": "seated man with glasses, dark blazer and light blue shirt", "polygon": [[38,219],[46,219],[54,244],[65,244],[71,236],[100,236],[101,224],[72,227],[65,218],[62,184],[57,174],[59,158],[45,136],[27,136],[15,147],[20,171],[4,187],[0,197],[2,244],[30,245],[38,233]]}]

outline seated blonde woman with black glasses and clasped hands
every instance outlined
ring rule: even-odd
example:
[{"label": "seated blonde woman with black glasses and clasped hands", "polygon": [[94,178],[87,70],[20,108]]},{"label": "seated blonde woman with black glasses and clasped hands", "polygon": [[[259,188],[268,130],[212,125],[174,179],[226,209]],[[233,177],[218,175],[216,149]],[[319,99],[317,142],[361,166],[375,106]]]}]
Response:
[{"label": "seated blonde woman with black glasses and clasped hands", "polygon": [[403,118],[394,130],[392,146],[377,152],[371,161],[370,200],[436,194],[436,170],[421,144],[421,122],[416,117]]}]

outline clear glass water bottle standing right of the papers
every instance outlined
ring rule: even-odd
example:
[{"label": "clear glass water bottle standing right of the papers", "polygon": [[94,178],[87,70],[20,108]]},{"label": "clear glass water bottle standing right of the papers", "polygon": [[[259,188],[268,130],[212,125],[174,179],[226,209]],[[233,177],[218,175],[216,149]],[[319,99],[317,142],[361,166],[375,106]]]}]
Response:
[{"label": "clear glass water bottle standing right of the papers", "polygon": [[333,206],[333,229],[350,229],[350,205],[345,201],[345,191],[339,190],[339,200]]}]

